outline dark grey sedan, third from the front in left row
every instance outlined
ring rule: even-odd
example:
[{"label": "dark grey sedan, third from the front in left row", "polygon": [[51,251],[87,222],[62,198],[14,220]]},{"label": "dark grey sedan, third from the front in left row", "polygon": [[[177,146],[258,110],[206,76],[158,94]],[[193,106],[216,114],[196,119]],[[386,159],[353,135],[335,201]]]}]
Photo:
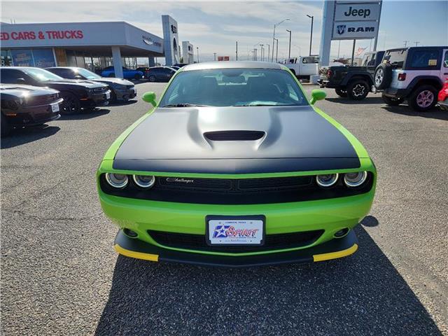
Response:
[{"label": "dark grey sedan, third from the front in left row", "polygon": [[134,83],[122,78],[102,77],[90,70],[78,68],[76,66],[55,66],[46,70],[67,79],[87,79],[94,80],[109,85],[111,88],[111,100],[124,100],[137,97],[137,89]]}]

